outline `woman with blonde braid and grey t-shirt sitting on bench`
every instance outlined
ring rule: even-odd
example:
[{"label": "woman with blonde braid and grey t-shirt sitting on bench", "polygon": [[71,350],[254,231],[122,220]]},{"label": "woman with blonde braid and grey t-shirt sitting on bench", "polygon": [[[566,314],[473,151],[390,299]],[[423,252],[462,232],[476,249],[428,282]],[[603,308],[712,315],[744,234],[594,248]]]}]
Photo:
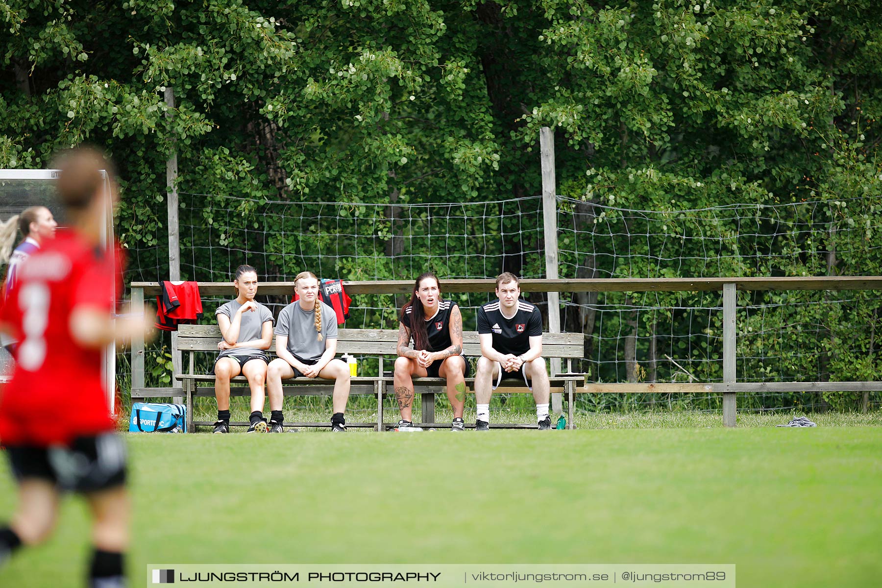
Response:
[{"label": "woman with blonde braid and grey t-shirt sitting on bench", "polygon": [[295,278],[299,300],[291,302],[276,321],[276,355],[266,369],[266,391],[273,413],[270,433],[282,432],[282,379],[320,377],[334,380],[331,430],[346,431],[346,402],[349,398],[349,367],[335,360],[337,319],[333,308],[318,300],[318,278],[300,272]]}]

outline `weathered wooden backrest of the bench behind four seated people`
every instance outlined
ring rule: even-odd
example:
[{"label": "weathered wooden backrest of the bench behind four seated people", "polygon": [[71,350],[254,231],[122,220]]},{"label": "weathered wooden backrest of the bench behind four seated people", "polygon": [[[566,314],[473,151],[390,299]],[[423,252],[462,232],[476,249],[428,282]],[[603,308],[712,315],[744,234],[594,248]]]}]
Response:
[{"label": "weathered wooden backrest of the bench behind four seated people", "polygon": [[[177,328],[177,348],[181,351],[217,351],[221,329],[216,324],[181,324]],[[477,331],[462,333],[464,353],[481,354]],[[581,333],[542,333],[542,356],[580,359],[584,345]],[[398,331],[393,329],[340,329],[338,354],[395,355]],[[270,352],[275,352],[275,338]]]}]

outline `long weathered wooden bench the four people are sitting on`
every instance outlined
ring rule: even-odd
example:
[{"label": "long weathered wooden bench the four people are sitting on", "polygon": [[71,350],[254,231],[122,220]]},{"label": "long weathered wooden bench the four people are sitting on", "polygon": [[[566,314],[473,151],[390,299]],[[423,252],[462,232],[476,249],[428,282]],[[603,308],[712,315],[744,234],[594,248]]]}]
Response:
[{"label": "long weathered wooden bench the four people are sitting on", "polygon": [[[156,388],[132,388],[132,398],[147,398],[162,396],[182,396],[186,399],[187,405],[187,430],[195,431],[194,425],[206,426],[212,425],[212,422],[193,421],[193,398],[197,397],[214,397],[214,376],[207,374],[197,374],[195,372],[196,358],[195,354],[200,352],[219,353],[218,343],[221,341],[221,331],[216,325],[201,324],[184,324],[178,328],[178,348],[182,352],[189,352],[189,368],[186,372],[176,374],[176,379],[180,380],[182,387],[171,387],[166,389]],[[398,331],[396,330],[377,330],[377,329],[340,329],[337,339],[337,354],[353,354],[353,355],[370,355],[377,357],[379,376],[353,376],[351,380],[350,396],[355,394],[372,394],[377,398],[377,422],[374,423],[358,423],[348,422],[347,427],[365,427],[376,428],[377,430],[385,430],[386,427],[392,426],[394,423],[385,423],[383,419],[383,398],[393,395],[392,376],[386,376],[384,366],[392,368],[393,359],[385,359],[385,356],[396,356],[396,346],[398,345]],[[542,356],[549,360],[550,358],[566,359],[568,373],[560,374],[550,378],[552,392],[565,392],[569,400],[569,428],[572,426],[573,416],[573,397],[576,392],[577,384],[585,382],[584,374],[569,373],[569,367],[573,359],[582,357],[583,336],[580,333],[543,333],[542,335]],[[481,345],[478,341],[478,334],[475,331],[467,331],[463,333],[464,354],[467,356],[478,356],[481,354]],[[275,343],[269,349],[270,353],[275,351]],[[360,363],[361,365],[361,363]],[[211,385],[199,385],[199,383],[207,383]],[[231,383],[245,384],[230,387],[230,396],[250,396],[247,386],[247,380],[243,376],[236,376]],[[283,380],[282,390],[286,396],[317,396],[333,393],[333,382],[322,379],[310,379],[306,377],[290,378]],[[474,391],[475,378],[467,378],[466,384],[470,391]],[[444,378],[414,378],[414,391],[420,394],[422,408],[422,427],[442,427],[450,426],[450,423],[435,422],[435,395],[438,393],[445,394]],[[518,385],[515,380],[506,380],[503,385],[497,389],[495,393],[500,392],[528,392],[523,383]],[[397,421],[397,419],[396,419]],[[231,425],[248,425],[247,422],[231,422]],[[286,422],[286,427],[329,427],[328,422]],[[474,425],[467,425],[474,426]],[[493,428],[534,428],[535,425],[527,424],[497,424],[493,423]]]}]

